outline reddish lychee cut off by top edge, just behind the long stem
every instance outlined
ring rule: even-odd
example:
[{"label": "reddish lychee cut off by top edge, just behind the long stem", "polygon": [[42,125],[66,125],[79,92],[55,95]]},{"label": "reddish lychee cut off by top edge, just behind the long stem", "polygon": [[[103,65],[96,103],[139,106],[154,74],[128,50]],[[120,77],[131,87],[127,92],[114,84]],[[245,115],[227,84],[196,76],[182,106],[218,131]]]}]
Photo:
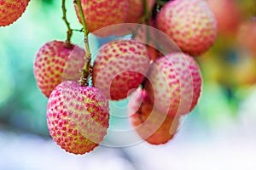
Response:
[{"label": "reddish lychee cut off by top edge, just behind the long stem", "polygon": [[[112,29],[106,29],[106,31],[97,30],[105,26],[124,23],[129,0],[81,0],[81,4],[88,30],[98,37],[108,37],[114,32]],[[74,5],[79,21],[82,23],[78,5],[76,3]]]}]

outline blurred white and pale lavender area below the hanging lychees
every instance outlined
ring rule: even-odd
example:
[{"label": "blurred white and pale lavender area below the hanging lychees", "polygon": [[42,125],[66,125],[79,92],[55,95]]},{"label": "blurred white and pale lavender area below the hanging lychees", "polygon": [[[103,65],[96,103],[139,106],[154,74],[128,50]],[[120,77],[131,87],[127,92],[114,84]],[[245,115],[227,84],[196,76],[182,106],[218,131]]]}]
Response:
[{"label": "blurred white and pale lavender area below the hanging lychees", "polygon": [[168,144],[141,143],[122,149],[101,146],[84,156],[68,154],[52,140],[0,127],[0,169],[254,170],[255,101],[256,91],[241,103],[236,121],[226,118],[214,128],[197,126],[191,115]]}]

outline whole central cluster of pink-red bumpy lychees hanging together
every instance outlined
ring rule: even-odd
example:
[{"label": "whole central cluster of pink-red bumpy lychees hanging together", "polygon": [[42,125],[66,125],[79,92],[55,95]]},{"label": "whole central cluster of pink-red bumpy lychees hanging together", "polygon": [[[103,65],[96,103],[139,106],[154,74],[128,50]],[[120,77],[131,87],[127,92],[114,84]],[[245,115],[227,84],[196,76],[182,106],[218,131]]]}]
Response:
[{"label": "whole central cluster of pink-red bumpy lychees hanging together", "polygon": [[[206,52],[217,35],[216,20],[206,1],[176,0],[164,5],[157,0],[79,2],[90,33],[132,37],[102,45],[91,65],[91,86],[79,83],[79,70],[86,62],[83,48],[74,44],[67,48],[61,41],[39,48],[34,76],[49,98],[49,134],[67,152],[89,152],[107,134],[108,100],[131,95],[127,116],[132,127],[148,143],[165,144],[177,133],[180,116],[189,114],[200,98],[202,78],[195,56]],[[122,29],[121,23],[137,26]],[[105,26],[112,27],[104,31]],[[150,28],[162,32],[177,48],[170,50],[166,38]]]}]

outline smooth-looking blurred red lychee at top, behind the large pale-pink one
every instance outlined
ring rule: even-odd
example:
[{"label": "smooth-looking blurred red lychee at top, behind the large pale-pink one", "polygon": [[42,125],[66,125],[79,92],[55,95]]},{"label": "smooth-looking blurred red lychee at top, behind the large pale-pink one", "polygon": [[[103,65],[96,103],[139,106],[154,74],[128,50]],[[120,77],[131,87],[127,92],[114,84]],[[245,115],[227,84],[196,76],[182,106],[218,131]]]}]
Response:
[{"label": "smooth-looking blurred red lychee at top, behind the large pale-pink one", "polygon": [[218,34],[234,35],[241,22],[241,11],[234,0],[207,0],[217,24]]}]

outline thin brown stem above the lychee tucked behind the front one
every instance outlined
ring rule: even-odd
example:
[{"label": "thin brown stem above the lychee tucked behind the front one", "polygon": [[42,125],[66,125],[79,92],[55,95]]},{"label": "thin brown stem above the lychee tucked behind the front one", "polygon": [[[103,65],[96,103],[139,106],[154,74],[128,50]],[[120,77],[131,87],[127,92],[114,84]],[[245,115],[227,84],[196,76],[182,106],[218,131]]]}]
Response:
[{"label": "thin brown stem above the lychee tucked behind the front one", "polygon": [[66,8],[65,3],[66,3],[66,0],[62,0],[62,5],[61,5],[62,13],[63,13],[62,20],[64,20],[64,22],[67,26],[67,40],[64,43],[64,47],[65,48],[73,48],[73,46],[71,44],[71,37],[72,37],[73,31],[70,27],[70,23],[67,21],[67,8]]}]

